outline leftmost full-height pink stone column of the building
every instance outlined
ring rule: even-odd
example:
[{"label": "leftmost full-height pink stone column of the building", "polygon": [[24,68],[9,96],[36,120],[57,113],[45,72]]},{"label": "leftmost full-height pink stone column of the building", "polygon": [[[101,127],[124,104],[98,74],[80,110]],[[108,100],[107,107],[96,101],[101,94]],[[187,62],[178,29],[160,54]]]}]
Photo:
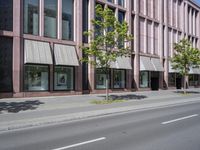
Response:
[{"label": "leftmost full-height pink stone column of the building", "polygon": [[22,97],[23,90],[23,1],[13,1],[13,97]]}]

